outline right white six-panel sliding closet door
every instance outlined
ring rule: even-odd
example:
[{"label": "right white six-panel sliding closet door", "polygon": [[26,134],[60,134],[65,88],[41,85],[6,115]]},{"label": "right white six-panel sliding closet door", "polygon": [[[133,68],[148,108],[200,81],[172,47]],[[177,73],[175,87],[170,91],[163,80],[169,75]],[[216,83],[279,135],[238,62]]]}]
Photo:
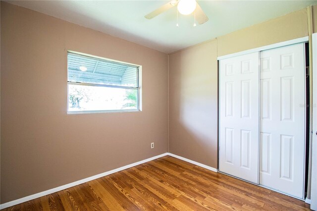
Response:
[{"label": "right white six-panel sliding closet door", "polygon": [[261,55],[260,184],[303,198],[304,44]]}]

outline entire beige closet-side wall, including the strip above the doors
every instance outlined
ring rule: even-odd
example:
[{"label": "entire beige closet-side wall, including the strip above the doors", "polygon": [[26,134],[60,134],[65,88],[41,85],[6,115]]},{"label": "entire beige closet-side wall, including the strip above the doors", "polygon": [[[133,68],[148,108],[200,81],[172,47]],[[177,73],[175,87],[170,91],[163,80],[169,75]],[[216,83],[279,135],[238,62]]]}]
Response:
[{"label": "entire beige closet-side wall, including the strip above the doors", "polygon": [[306,8],[169,55],[169,152],[217,168],[217,56],[305,36]]}]

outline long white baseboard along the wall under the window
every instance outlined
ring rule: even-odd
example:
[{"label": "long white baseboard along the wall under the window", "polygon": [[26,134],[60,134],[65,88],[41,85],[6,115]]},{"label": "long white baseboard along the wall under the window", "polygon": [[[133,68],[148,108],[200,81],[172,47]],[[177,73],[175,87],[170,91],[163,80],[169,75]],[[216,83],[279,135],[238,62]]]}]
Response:
[{"label": "long white baseboard along the wall under the window", "polygon": [[131,168],[133,166],[140,165],[142,163],[149,162],[151,160],[154,160],[154,159],[157,159],[157,158],[161,158],[161,157],[164,157],[164,156],[167,156],[167,155],[168,155],[168,153],[164,153],[164,154],[152,157],[152,158],[144,159],[144,160],[141,160],[141,161],[138,161],[138,162],[134,162],[134,163],[129,164],[129,165],[122,166],[120,168],[116,168],[116,169],[113,169],[113,170],[110,170],[110,171],[106,171],[104,173],[97,174],[95,176],[87,177],[85,179],[81,179],[81,180],[78,180],[76,182],[72,182],[72,183],[69,183],[69,184],[66,184],[66,185],[62,185],[62,186],[59,186],[57,188],[52,188],[50,190],[43,191],[43,192],[40,192],[40,193],[37,193],[37,194],[33,194],[31,196],[26,196],[26,197],[23,197],[21,199],[17,199],[17,200],[11,201],[11,202],[7,202],[7,203],[4,203],[4,204],[0,205],[0,210],[2,210],[4,208],[11,207],[11,206],[14,206],[14,205],[18,205],[18,204],[21,204],[23,202],[27,202],[27,201],[30,201],[30,200],[33,200],[33,199],[37,199],[39,197],[46,196],[46,195],[49,195],[49,194],[52,194],[52,193],[55,193],[55,192],[58,192],[58,191],[61,191],[61,190],[65,190],[67,188],[71,188],[71,187],[74,187],[76,185],[80,185],[80,184],[83,184],[85,182],[89,182],[91,180],[98,179],[100,177],[107,176],[109,174],[113,174],[115,172],[122,171],[124,169]]}]

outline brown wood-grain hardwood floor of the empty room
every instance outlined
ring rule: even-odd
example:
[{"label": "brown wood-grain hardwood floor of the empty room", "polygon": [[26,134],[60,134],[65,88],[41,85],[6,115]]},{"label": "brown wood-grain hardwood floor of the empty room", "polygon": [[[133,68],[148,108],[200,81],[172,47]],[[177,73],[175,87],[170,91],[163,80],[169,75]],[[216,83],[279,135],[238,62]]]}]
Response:
[{"label": "brown wood-grain hardwood floor of the empty room", "polygon": [[3,211],[20,210],[310,209],[303,201],[166,156]]}]

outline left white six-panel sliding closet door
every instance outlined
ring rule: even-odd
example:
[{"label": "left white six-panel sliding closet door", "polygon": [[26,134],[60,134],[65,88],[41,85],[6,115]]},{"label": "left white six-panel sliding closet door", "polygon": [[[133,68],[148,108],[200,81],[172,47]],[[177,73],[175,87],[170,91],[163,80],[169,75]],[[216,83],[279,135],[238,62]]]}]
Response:
[{"label": "left white six-panel sliding closet door", "polygon": [[259,53],[220,60],[219,170],[259,183]]}]

